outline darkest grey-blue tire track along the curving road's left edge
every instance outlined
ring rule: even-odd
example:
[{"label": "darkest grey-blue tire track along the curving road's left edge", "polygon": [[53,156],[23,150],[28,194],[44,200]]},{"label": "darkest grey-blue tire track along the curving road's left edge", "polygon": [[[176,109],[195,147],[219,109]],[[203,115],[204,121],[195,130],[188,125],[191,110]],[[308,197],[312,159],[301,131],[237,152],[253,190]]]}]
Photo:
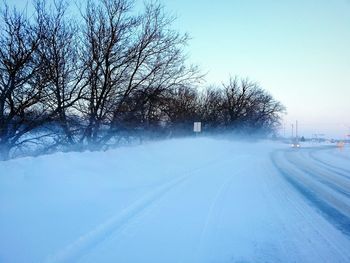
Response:
[{"label": "darkest grey-blue tire track along the curving road's left edge", "polygon": [[271,161],[279,173],[313,204],[333,225],[350,236],[349,207],[334,197],[331,192],[322,191],[314,182],[303,178],[293,164],[288,167],[288,160],[281,158],[282,151],[271,154]]}]

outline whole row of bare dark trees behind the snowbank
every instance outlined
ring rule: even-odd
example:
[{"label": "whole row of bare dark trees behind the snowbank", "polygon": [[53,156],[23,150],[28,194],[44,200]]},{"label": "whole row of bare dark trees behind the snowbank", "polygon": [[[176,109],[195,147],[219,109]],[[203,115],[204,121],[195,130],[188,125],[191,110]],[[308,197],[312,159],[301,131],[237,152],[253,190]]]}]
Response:
[{"label": "whole row of bare dark trees behind the snowbank", "polygon": [[43,0],[34,12],[3,4],[0,159],[29,149],[99,150],[130,136],[242,130],[270,134],[284,107],[258,84],[202,87],[189,37],[163,7],[131,0]]}]

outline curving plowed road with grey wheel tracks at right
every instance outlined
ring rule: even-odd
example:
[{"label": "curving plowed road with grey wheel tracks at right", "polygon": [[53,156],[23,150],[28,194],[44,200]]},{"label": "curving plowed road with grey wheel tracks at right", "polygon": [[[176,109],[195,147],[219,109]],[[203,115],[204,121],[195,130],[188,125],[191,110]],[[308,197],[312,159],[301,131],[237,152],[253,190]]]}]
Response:
[{"label": "curving plowed road with grey wheel tracks at right", "polygon": [[[272,161],[310,205],[350,236],[350,165],[341,168],[334,162],[327,162],[331,158],[325,157],[325,154],[335,155],[339,151],[335,147],[276,151]],[[346,166],[346,162],[342,164]]]}]

